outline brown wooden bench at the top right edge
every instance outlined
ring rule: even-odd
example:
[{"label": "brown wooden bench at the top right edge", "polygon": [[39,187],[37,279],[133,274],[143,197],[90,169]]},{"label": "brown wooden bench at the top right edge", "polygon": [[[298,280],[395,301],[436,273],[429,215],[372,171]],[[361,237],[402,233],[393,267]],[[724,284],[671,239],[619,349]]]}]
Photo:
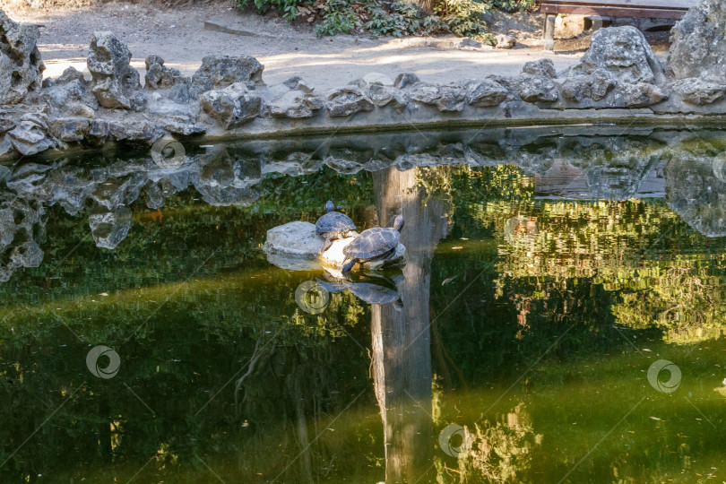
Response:
[{"label": "brown wooden bench at the top right edge", "polygon": [[558,13],[591,17],[644,17],[680,20],[698,0],[542,0],[545,13],[545,50],[555,48],[555,19]]}]

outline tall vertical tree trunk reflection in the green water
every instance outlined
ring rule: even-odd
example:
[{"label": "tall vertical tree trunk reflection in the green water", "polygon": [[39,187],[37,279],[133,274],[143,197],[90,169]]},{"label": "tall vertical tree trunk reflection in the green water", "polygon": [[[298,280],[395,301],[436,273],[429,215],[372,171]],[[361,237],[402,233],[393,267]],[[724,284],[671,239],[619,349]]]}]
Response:
[{"label": "tall vertical tree trunk reflection in the green water", "polygon": [[445,203],[417,188],[418,169],[374,174],[378,222],[390,227],[403,214],[405,277],[398,285],[403,307],[373,305],[371,334],[376,400],[385,434],[385,481],[415,482],[430,469],[431,339],[428,299],[431,260],[445,237]]}]

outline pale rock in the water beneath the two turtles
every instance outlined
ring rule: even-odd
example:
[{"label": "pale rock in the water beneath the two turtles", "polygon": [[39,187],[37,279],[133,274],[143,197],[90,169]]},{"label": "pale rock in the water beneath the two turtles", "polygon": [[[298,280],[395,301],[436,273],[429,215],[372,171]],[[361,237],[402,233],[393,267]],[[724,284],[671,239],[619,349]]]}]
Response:
[{"label": "pale rock in the water beneath the two turtles", "polygon": [[[343,248],[348,246],[354,237],[333,240],[333,244],[320,254],[325,244],[324,238],[317,235],[315,225],[310,222],[293,221],[274,229],[267,230],[267,241],[263,250],[270,263],[293,271],[310,271],[315,263],[328,267],[341,268],[345,262]],[[377,269],[384,265],[403,264],[406,247],[396,246],[392,255],[385,260],[370,261],[363,264],[366,269]]]}]

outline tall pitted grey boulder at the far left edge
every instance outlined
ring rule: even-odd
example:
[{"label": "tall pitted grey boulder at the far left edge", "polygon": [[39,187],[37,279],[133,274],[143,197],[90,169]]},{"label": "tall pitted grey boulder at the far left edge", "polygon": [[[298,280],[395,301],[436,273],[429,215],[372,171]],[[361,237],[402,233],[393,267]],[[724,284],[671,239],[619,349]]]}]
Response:
[{"label": "tall pitted grey boulder at the far left edge", "polygon": [[37,26],[18,24],[0,10],[0,105],[21,103],[40,90],[46,66],[40,60]]}]

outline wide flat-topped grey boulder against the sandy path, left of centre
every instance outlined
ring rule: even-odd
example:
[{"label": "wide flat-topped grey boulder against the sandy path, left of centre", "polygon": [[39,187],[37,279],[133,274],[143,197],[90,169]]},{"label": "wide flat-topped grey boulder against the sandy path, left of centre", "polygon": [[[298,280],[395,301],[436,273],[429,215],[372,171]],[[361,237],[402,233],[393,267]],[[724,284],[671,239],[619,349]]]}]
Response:
[{"label": "wide flat-topped grey boulder against the sandy path, left of centre", "polygon": [[252,56],[206,56],[192,76],[194,95],[243,83],[249,90],[264,86],[264,65]]}]

